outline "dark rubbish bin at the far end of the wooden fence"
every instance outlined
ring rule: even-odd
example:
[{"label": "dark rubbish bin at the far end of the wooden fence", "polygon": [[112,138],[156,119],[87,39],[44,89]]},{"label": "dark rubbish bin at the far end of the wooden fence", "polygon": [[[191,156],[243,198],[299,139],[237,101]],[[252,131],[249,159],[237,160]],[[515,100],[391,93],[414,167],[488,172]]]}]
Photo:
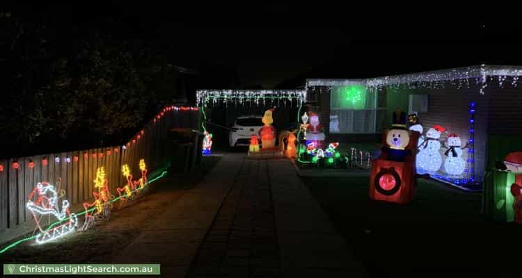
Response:
[{"label": "dark rubbish bin at the far end of the wooden fence", "polygon": [[199,131],[175,128],[169,131],[171,142],[169,173],[191,172],[201,161],[201,143],[203,135]]}]

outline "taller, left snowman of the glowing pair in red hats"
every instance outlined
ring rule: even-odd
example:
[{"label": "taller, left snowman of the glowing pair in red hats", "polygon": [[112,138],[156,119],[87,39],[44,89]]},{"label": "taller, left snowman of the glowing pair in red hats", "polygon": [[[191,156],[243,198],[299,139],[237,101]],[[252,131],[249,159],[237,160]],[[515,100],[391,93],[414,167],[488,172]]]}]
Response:
[{"label": "taller, left snowman of the glowing pair in red hats", "polygon": [[437,172],[441,169],[442,156],[440,154],[441,142],[438,139],[441,138],[441,132],[445,131],[442,126],[435,125],[428,129],[426,132],[426,139],[419,146],[419,153],[417,154],[417,167],[420,170],[427,172]]}]

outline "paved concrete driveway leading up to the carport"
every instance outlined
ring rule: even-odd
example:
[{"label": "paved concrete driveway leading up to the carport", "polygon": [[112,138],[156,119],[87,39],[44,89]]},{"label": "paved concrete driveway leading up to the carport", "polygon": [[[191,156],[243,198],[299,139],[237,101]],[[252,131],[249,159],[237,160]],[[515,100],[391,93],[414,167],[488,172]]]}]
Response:
[{"label": "paved concrete driveway leading up to the carport", "polygon": [[227,154],[116,260],[164,277],[361,277],[290,161]]}]

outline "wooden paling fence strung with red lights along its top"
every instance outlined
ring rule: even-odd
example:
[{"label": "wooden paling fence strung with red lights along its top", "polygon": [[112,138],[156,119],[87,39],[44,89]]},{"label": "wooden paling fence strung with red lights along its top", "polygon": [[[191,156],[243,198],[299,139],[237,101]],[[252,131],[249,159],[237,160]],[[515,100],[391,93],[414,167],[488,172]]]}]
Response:
[{"label": "wooden paling fence strung with red lights along its top", "polygon": [[33,221],[26,202],[36,183],[47,181],[58,190],[65,190],[63,198],[74,206],[92,199],[96,170],[103,166],[111,193],[118,195],[116,188],[125,184],[122,165],[128,164],[136,179],[141,173],[139,161],[142,158],[149,172],[165,167],[169,163],[168,130],[175,127],[198,129],[199,124],[198,108],[167,106],[125,147],[0,159],[0,231]]}]

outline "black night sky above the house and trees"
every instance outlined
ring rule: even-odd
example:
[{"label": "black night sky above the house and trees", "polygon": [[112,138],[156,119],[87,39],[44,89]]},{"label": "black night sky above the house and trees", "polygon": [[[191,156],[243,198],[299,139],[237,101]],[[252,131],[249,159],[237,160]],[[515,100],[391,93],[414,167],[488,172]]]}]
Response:
[{"label": "black night sky above the house and trees", "polygon": [[48,13],[58,25],[106,24],[122,37],[146,38],[174,64],[235,68],[241,86],[273,88],[294,76],[367,78],[480,63],[522,65],[516,8],[487,16],[484,6],[411,8],[106,3],[28,10]]}]

